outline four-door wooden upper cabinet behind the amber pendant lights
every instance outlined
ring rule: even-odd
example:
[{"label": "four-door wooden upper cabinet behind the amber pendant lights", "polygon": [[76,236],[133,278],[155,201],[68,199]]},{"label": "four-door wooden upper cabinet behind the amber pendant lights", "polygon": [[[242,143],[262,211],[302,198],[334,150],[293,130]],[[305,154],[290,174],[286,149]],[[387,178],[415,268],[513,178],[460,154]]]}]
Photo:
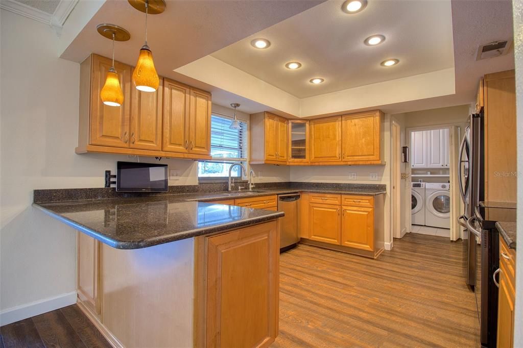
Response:
[{"label": "four-door wooden upper cabinet behind the amber pendant lights", "polygon": [[132,66],[115,61],[123,104],[100,99],[111,60],[91,54],[80,65],[76,153],[209,159],[211,95],[168,79],[155,92],[132,86]]}]

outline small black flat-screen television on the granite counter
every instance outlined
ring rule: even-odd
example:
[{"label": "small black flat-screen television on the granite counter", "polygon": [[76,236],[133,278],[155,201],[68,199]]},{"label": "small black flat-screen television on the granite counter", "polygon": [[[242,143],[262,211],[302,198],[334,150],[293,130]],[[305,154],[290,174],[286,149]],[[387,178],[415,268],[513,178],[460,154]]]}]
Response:
[{"label": "small black flat-screen television on the granite counter", "polygon": [[168,190],[167,165],[117,162],[116,191],[167,192]]}]

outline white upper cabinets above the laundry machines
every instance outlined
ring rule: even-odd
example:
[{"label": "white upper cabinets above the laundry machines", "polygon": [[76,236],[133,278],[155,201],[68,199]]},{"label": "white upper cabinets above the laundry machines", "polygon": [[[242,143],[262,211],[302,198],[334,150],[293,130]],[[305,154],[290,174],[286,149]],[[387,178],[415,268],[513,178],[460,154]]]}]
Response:
[{"label": "white upper cabinets above the laundry machines", "polygon": [[449,168],[449,129],[411,133],[412,168]]}]

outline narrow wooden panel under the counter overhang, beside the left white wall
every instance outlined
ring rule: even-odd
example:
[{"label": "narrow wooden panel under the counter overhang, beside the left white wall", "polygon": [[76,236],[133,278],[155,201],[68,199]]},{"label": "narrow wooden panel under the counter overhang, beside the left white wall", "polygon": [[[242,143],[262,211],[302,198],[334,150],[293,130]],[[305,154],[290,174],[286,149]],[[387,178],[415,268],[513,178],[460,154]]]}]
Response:
[{"label": "narrow wooden panel under the counter overhang, beside the left white wall", "polygon": [[101,313],[100,281],[101,242],[77,232],[77,296],[78,303],[94,316]]}]

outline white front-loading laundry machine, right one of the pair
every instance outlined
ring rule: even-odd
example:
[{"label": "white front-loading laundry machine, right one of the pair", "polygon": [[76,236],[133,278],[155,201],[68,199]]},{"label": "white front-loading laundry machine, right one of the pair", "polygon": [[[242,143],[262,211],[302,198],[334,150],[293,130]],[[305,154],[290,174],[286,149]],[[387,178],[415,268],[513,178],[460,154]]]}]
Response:
[{"label": "white front-loading laundry machine, right one of the pair", "polygon": [[450,228],[450,184],[425,184],[425,225]]}]

